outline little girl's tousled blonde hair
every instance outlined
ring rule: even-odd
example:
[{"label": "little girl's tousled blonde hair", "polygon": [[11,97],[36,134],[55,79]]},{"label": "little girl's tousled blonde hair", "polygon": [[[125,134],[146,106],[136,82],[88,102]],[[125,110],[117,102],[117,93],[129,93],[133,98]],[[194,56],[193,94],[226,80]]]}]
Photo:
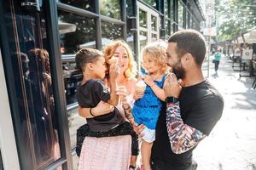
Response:
[{"label": "little girl's tousled blonde hair", "polygon": [[148,55],[157,62],[160,67],[161,74],[167,71],[166,48],[166,42],[150,42],[142,49],[141,52],[142,58],[144,55]]}]

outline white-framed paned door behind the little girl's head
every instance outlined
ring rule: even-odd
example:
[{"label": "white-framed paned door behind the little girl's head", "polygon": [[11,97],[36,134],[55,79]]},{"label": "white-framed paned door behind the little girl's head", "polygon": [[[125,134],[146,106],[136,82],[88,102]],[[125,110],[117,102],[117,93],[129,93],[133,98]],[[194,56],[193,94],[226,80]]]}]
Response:
[{"label": "white-framed paned door behind the little girl's head", "polygon": [[[157,41],[160,37],[160,16],[143,3],[137,2],[137,26],[139,34],[139,51],[148,43]],[[139,57],[139,63],[141,59]]]}]

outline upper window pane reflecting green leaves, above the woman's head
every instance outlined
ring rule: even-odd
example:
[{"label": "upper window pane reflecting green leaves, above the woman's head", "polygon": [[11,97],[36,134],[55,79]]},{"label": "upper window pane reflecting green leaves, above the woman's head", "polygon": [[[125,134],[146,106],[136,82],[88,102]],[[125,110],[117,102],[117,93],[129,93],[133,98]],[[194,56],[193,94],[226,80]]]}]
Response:
[{"label": "upper window pane reflecting green leaves, above the woman's head", "polygon": [[101,0],[100,9],[101,14],[121,20],[121,3],[119,0]]}]

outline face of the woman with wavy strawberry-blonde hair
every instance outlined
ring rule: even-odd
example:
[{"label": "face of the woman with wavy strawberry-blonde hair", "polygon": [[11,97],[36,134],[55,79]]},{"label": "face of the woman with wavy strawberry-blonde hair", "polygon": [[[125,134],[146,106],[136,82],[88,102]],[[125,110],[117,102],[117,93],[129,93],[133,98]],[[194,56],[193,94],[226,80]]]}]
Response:
[{"label": "face of the woman with wavy strawberry-blonde hair", "polygon": [[118,58],[120,71],[124,72],[125,69],[127,69],[129,63],[129,56],[126,49],[123,46],[119,46],[115,49],[113,56]]}]

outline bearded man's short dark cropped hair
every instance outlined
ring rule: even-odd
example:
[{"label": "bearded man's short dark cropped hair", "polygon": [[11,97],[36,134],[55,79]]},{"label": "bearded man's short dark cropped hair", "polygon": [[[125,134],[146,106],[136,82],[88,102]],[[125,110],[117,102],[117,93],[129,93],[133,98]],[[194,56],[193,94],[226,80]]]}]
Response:
[{"label": "bearded man's short dark cropped hair", "polygon": [[177,31],[169,38],[168,42],[177,42],[176,52],[179,57],[191,54],[197,65],[202,65],[206,55],[206,42],[199,31]]}]

